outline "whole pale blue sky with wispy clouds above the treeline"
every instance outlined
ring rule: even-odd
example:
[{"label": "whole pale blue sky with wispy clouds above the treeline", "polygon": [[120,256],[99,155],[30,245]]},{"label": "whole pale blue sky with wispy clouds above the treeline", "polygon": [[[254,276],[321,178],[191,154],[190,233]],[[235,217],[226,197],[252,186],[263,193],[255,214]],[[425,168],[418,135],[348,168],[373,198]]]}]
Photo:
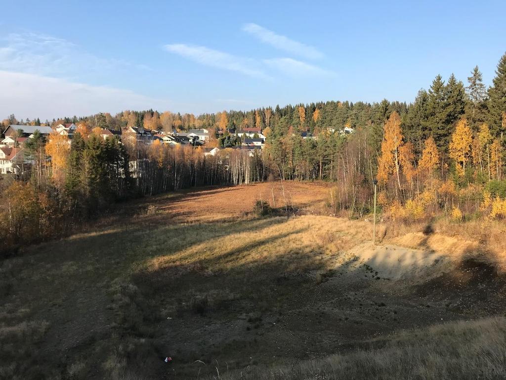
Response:
[{"label": "whole pale blue sky with wispy clouds above the treeline", "polygon": [[409,102],[506,51],[504,1],[1,2],[0,119]]}]

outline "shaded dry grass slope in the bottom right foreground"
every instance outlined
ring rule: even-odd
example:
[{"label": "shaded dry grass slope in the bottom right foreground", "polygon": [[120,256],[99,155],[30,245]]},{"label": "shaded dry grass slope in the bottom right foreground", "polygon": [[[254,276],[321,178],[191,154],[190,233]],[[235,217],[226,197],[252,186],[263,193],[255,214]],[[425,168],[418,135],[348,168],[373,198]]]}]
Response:
[{"label": "shaded dry grass slope in the bottom right foreground", "polygon": [[[269,369],[256,366],[209,378],[475,380],[506,377],[504,318],[410,330],[388,339],[382,349],[357,350],[348,355],[332,355],[292,366]],[[370,344],[374,346],[374,341]]]}]

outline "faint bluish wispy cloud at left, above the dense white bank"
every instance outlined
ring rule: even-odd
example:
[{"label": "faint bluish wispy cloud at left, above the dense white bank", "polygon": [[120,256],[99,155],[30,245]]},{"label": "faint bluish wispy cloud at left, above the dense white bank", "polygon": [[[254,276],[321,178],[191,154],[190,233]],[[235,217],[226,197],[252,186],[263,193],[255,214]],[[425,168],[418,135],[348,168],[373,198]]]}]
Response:
[{"label": "faint bluish wispy cloud at left, above the dense white bank", "polygon": [[111,72],[132,69],[149,70],[149,67],[100,58],[67,40],[46,34],[10,33],[0,39],[0,70],[79,80],[90,75],[107,77]]}]

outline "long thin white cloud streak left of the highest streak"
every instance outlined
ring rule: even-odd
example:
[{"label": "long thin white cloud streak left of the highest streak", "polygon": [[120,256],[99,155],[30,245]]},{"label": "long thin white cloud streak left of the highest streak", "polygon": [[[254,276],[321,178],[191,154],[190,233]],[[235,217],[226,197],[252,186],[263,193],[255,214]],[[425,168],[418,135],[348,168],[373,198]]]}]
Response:
[{"label": "long thin white cloud streak left of the highest streak", "polygon": [[188,58],[206,66],[212,66],[229,71],[236,71],[249,77],[268,79],[268,75],[258,67],[254,59],[237,57],[205,46],[170,44],[165,50]]}]

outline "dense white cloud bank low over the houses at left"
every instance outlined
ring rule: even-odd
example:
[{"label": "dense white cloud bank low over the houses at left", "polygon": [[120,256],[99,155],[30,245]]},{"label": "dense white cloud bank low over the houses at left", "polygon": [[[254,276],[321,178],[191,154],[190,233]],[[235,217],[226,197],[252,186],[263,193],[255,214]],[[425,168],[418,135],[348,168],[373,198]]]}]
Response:
[{"label": "dense white cloud bank low over the houses at left", "polygon": [[90,86],[43,75],[0,70],[0,119],[53,119],[123,109],[168,109],[171,102],[105,86]]}]

